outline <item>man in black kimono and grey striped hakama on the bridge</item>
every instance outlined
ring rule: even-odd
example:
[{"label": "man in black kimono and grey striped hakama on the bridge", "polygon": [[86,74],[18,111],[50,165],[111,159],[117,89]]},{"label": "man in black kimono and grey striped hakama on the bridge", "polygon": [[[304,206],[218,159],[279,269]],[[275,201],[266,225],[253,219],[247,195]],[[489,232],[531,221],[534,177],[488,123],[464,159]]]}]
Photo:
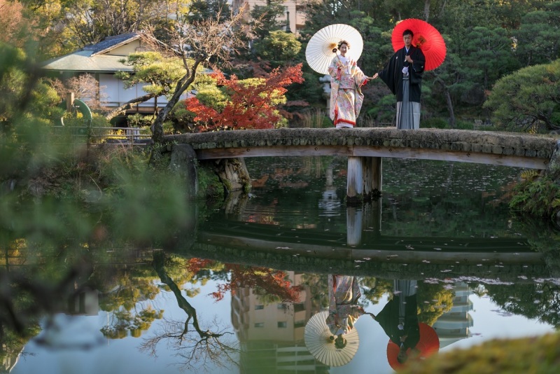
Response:
[{"label": "man in black kimono and grey striped hakama on the bridge", "polygon": [[402,33],[405,46],[396,51],[384,69],[372,78],[381,78],[397,97],[397,128],[420,127],[420,94],[422,73],[426,57],[420,48],[412,46],[414,33],[406,29]]}]

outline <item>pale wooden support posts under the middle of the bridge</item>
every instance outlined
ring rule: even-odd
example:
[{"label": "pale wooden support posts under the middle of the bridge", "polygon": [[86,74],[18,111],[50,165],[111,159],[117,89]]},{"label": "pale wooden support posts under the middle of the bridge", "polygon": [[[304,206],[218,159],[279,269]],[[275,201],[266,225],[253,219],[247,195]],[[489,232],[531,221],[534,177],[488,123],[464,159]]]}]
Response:
[{"label": "pale wooden support posts under the middle of the bridge", "polygon": [[370,200],[381,193],[382,162],[380,157],[348,158],[346,180],[346,202],[356,203]]}]

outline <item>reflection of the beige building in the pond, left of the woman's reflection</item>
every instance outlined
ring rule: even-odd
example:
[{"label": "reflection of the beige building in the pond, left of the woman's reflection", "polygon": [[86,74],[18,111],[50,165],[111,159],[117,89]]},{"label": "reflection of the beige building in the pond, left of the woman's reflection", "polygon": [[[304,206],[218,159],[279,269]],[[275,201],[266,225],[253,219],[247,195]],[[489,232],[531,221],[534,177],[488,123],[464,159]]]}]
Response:
[{"label": "reflection of the beige building in the pond, left of the woman's reflection", "polygon": [[[301,274],[288,275],[294,285],[302,283]],[[311,295],[305,289],[293,304],[265,304],[252,289],[237,289],[232,294],[232,325],[241,343],[241,373],[327,373],[328,366],[305,347],[311,312]]]}]

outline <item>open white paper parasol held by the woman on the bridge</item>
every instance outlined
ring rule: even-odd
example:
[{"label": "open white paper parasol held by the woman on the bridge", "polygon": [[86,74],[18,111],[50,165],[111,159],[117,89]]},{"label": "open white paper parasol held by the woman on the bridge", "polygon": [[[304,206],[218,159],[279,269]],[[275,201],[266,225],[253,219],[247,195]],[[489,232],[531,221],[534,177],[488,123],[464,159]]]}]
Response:
[{"label": "open white paper parasol held by the woman on the bridge", "polygon": [[362,36],[353,27],[337,23],[323,27],[314,36],[311,36],[305,49],[305,60],[309,67],[319,74],[328,74],[328,66],[336,53],[336,50],[335,52],[332,50],[337,48],[338,42],[342,40],[350,43],[350,49],[346,55],[358,60],[363,50]]}]

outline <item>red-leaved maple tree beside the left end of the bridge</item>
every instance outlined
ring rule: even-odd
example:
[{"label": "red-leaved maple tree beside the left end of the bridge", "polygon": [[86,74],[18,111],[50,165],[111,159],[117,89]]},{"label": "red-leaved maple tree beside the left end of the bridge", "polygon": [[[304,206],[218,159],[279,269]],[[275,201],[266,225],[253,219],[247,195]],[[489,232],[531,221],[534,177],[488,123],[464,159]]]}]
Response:
[{"label": "red-leaved maple tree beside the left end of the bridge", "polygon": [[199,131],[269,129],[281,120],[276,102],[292,83],[302,83],[302,64],[274,69],[258,83],[239,81],[237,76],[225,78],[221,71],[212,74],[225,88],[230,100],[223,111],[202,104],[196,97],[186,100],[188,111],[195,113]]}]

